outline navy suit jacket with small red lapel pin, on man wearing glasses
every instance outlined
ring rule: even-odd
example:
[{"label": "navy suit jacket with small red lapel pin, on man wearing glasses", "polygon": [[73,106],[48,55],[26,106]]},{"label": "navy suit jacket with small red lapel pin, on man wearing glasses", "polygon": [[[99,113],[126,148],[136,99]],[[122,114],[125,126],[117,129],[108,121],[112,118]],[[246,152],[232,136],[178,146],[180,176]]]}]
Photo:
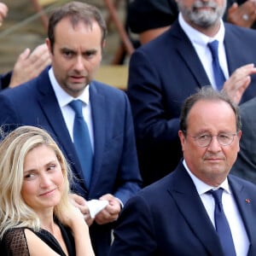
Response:
[{"label": "navy suit jacket with small red lapel pin, on man wearing glasses", "polygon": [[[256,186],[232,175],[228,179],[247,230],[248,255],[256,255]],[[126,203],[109,255],[224,256],[217,232],[182,163]]]}]

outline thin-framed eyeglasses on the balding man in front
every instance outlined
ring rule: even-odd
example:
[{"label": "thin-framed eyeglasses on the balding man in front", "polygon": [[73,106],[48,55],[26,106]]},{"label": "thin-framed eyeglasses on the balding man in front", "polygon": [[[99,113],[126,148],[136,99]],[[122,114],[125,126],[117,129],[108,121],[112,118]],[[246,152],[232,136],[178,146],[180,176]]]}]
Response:
[{"label": "thin-framed eyeglasses on the balding man in front", "polygon": [[[184,131],[186,134],[186,132]],[[189,134],[188,134],[189,135]],[[211,135],[208,133],[203,133],[198,136],[191,136],[195,139],[195,143],[201,148],[208,147],[212,143],[212,137],[217,137],[218,143],[222,146],[229,146],[234,141],[234,137],[237,136],[236,133],[219,133],[218,135]]]}]

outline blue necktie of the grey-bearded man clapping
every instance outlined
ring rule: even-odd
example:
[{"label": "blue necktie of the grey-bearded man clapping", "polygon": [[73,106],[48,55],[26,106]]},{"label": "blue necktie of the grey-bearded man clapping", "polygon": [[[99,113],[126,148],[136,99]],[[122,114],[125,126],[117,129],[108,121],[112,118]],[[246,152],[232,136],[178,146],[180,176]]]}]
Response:
[{"label": "blue necktie of the grey-bearded man clapping", "polygon": [[224,73],[219,66],[218,61],[218,41],[214,40],[212,43],[208,44],[209,49],[212,53],[212,70],[214,73],[214,79],[218,90],[221,90],[223,87],[223,84],[225,82]]}]

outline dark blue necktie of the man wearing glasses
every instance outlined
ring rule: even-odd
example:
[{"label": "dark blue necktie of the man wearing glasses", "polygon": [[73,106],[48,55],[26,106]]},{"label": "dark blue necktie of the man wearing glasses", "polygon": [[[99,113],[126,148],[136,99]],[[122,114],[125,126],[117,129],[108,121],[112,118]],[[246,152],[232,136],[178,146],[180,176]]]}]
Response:
[{"label": "dark blue necktie of the man wearing glasses", "polygon": [[236,256],[236,250],[230,231],[230,225],[225,216],[222,205],[222,193],[223,189],[210,190],[209,191],[215,200],[214,219],[215,227],[218,233],[219,241],[222,245],[225,256]]}]

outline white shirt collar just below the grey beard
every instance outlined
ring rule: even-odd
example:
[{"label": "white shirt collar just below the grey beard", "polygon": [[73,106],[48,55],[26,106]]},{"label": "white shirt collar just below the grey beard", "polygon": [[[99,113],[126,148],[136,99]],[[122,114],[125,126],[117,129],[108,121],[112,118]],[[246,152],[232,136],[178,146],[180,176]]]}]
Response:
[{"label": "white shirt collar just below the grey beard", "polygon": [[204,33],[199,32],[194,27],[190,26],[189,23],[183,19],[183,15],[181,13],[178,15],[178,22],[192,44],[201,44],[206,46],[209,42],[214,40],[218,40],[219,44],[224,44],[225,28],[223,20],[220,20],[219,30],[213,38],[208,37]]}]

